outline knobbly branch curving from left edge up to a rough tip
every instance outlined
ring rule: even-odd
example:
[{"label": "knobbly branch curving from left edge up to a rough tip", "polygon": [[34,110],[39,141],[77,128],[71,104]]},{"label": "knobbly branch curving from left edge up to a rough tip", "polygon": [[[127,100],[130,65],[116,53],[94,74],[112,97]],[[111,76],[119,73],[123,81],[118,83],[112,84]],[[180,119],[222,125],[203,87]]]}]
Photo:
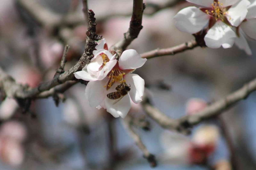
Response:
[{"label": "knobbly branch curving from left edge up to a rough tip", "polygon": [[5,74],[2,70],[0,70],[0,83],[4,84],[5,92],[8,97],[11,98],[20,98],[20,99],[26,99],[26,98],[33,98],[39,93],[50,90],[51,88],[62,84],[68,80],[74,79],[74,72],[80,71],[86,64],[90,62],[90,60],[93,57],[93,50],[95,50],[96,43],[95,41],[98,41],[102,38],[102,36],[96,35],[96,23],[94,18],[94,12],[92,10],[89,10],[89,22],[88,22],[88,29],[86,32],[86,44],[85,44],[85,50],[80,58],[79,62],[76,63],[72,68],[65,71],[63,74],[57,75],[52,80],[41,83],[38,87],[30,89],[27,87],[23,87],[22,85],[16,84],[15,80]]}]

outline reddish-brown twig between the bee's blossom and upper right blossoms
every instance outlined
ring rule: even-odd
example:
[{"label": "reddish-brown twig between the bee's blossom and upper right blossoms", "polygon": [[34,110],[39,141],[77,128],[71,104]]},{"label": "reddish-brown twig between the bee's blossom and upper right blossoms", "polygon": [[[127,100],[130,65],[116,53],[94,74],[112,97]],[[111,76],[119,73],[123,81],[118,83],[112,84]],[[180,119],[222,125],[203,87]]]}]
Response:
[{"label": "reddish-brown twig between the bee's blossom and upper right blossoms", "polygon": [[159,57],[159,56],[167,56],[167,55],[174,55],[176,53],[180,53],[186,50],[192,50],[195,47],[198,47],[198,43],[194,40],[185,42],[183,44],[170,47],[170,48],[163,48],[163,49],[155,49],[152,51],[148,51],[146,53],[142,53],[141,57],[146,58],[146,59],[151,59],[154,57]]}]

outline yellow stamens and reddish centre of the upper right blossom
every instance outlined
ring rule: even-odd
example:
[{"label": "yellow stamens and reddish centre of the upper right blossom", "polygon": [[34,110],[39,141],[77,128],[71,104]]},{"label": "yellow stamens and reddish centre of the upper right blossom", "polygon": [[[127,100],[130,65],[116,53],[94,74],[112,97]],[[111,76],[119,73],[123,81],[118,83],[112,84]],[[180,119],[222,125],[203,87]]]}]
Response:
[{"label": "yellow stamens and reddish centre of the upper right blossom", "polygon": [[214,17],[215,20],[221,20],[223,22],[226,22],[226,18],[228,17],[229,20],[231,20],[231,17],[228,14],[228,9],[223,8],[223,3],[220,3],[219,1],[214,1],[214,3],[211,4],[211,8],[205,10],[205,13]]}]

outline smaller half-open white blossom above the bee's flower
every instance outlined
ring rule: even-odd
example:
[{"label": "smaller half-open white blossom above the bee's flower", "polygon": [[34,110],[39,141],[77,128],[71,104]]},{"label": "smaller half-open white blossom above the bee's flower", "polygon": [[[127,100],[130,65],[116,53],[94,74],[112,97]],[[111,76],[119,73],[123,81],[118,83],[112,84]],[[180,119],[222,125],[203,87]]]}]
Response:
[{"label": "smaller half-open white blossom above the bee's flower", "polygon": [[93,51],[94,57],[91,59],[91,62],[82,71],[74,73],[77,79],[86,81],[103,80],[116,65],[116,54],[112,55],[108,51],[108,45],[105,39],[95,48],[96,50]]}]

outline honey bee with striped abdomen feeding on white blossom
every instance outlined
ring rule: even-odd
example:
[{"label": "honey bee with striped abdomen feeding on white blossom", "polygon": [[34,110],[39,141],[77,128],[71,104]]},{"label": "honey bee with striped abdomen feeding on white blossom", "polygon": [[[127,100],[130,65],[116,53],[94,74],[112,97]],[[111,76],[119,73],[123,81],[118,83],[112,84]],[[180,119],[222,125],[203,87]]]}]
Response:
[{"label": "honey bee with striped abdomen feeding on white blossom", "polygon": [[116,92],[108,93],[107,97],[108,99],[116,100],[114,104],[116,104],[119,100],[123,98],[128,92],[131,90],[131,85],[128,86],[126,83],[121,83],[116,87]]}]

